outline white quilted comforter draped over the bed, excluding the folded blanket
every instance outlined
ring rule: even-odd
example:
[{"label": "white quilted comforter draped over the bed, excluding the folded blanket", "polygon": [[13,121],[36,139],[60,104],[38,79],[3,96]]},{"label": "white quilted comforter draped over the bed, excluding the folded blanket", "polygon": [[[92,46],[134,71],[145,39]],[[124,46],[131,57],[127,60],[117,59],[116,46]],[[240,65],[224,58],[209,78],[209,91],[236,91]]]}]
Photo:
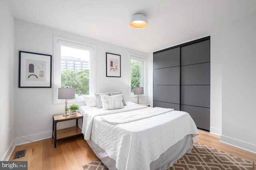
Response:
[{"label": "white quilted comforter draped over the bed, excluding the folded blanket", "polygon": [[[128,104],[122,111],[140,113],[144,107]],[[151,108],[153,109],[153,108]],[[183,139],[186,135],[198,135],[196,125],[184,111],[170,111],[153,117],[123,124],[110,124],[102,121],[108,114],[122,116],[118,110],[81,109],[84,115],[82,133],[116,160],[118,170],[149,170],[150,162]]]}]

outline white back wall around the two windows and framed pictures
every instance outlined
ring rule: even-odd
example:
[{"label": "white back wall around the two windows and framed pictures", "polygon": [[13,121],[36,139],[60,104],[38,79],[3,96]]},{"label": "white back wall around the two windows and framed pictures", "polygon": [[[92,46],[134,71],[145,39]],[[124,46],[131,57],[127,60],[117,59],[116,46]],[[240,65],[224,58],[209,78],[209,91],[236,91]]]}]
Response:
[{"label": "white back wall around the two windows and framed pictures", "polygon": [[[53,55],[54,35],[96,45],[96,92],[122,91],[124,99],[132,102],[136,102],[137,98],[128,98],[128,53],[145,57],[148,55],[50,27],[15,20],[15,132],[30,140],[51,136],[52,115],[62,113],[64,104],[53,104],[53,88],[18,88],[18,51]],[[121,78],[106,77],[106,52],[121,55]],[[146,103],[146,97],[140,98],[140,101]],[[81,106],[84,102],[77,104]],[[74,121],[62,122],[59,128],[72,125]],[[17,139],[16,144],[20,143],[24,141]]]}]

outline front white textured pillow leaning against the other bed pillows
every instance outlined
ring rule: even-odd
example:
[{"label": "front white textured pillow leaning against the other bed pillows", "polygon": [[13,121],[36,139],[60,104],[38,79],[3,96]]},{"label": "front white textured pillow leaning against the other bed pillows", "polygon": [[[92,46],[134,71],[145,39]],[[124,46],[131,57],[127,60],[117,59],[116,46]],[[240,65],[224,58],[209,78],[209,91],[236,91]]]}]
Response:
[{"label": "front white textured pillow leaning against the other bed pillows", "polygon": [[100,95],[102,100],[103,110],[124,108],[122,99],[123,95],[118,94],[114,96]]}]

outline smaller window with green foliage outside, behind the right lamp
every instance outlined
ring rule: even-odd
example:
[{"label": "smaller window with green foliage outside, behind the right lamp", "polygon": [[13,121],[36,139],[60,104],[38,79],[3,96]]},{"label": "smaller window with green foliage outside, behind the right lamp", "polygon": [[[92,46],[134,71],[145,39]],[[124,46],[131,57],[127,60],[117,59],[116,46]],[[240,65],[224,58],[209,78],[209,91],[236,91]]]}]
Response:
[{"label": "smaller window with green foliage outside, behind the right lamp", "polygon": [[134,95],[134,87],[144,87],[144,94],[147,96],[147,59],[146,57],[130,54],[130,71],[129,71],[129,97]]}]

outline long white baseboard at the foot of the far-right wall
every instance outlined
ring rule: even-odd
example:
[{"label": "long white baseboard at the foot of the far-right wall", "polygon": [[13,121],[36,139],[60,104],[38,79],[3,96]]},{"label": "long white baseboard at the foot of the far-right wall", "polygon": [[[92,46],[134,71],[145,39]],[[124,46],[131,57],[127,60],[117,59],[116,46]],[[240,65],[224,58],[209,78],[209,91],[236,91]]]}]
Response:
[{"label": "long white baseboard at the foot of the far-right wall", "polygon": [[226,143],[228,145],[232,145],[234,147],[238,147],[240,149],[247,150],[249,152],[256,153],[256,145],[254,145],[252,143],[247,143],[247,142],[240,141],[238,139],[234,139],[231,137],[226,137],[223,135],[220,136],[220,142]]}]

